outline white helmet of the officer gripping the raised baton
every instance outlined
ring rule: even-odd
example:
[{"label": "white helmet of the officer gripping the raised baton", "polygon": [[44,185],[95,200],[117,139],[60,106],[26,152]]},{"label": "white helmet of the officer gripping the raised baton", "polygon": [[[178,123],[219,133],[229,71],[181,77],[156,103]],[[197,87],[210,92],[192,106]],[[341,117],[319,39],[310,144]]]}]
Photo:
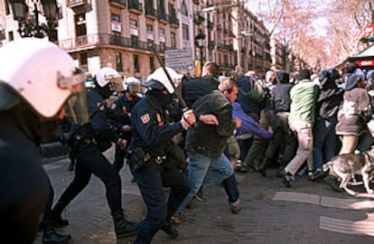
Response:
[{"label": "white helmet of the officer gripping the raised baton", "polygon": [[161,68],[158,68],[157,70],[154,70],[154,72],[147,77],[146,82],[145,82],[145,84],[143,84],[143,86],[152,88],[154,86],[154,84],[152,84],[151,80],[158,81],[164,86],[164,89],[167,89],[167,91],[170,94],[173,94],[174,93],[174,86],[171,83],[171,81],[174,83],[177,80],[182,79],[182,75],[178,74],[172,68],[165,67],[165,69],[168,72],[168,74],[169,74],[169,76],[172,80],[168,79],[167,75],[164,72],[164,69],[161,67]]}]

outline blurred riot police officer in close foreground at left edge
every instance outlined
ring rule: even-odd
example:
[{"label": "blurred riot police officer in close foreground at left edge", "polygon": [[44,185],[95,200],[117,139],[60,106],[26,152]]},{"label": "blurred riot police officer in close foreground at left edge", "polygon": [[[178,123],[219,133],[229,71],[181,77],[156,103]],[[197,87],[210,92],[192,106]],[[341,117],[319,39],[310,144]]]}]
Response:
[{"label": "blurred riot police officer in close foreground at left edge", "polygon": [[1,242],[32,243],[44,212],[43,243],[66,243],[70,236],[51,225],[53,192],[38,145],[64,114],[88,122],[84,72],[58,46],[33,38],[1,48],[0,67]]}]

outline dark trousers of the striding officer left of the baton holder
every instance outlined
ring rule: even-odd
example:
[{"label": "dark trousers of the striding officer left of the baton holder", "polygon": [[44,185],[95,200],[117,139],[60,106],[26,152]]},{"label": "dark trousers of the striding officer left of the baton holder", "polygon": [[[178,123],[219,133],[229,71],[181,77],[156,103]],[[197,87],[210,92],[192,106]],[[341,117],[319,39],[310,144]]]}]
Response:
[{"label": "dark trousers of the striding officer left of the baton holder", "polygon": [[89,183],[92,174],[104,183],[106,196],[111,212],[122,210],[121,178],[116,167],[109,163],[96,145],[83,143],[75,155],[77,165],[74,179],[62,193],[58,202],[61,208],[66,207]]}]

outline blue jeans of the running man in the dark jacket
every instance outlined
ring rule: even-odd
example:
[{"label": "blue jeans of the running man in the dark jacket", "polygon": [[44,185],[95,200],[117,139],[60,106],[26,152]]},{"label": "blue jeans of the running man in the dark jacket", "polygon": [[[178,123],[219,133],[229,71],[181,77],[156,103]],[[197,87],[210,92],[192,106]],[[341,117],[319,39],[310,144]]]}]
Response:
[{"label": "blue jeans of the running man in the dark jacket", "polygon": [[235,179],[234,170],[226,155],[220,155],[220,158],[212,158],[207,155],[187,153],[190,158],[188,178],[192,185],[191,191],[184,198],[176,212],[182,212],[193,196],[199,192],[201,185],[210,186],[217,183],[223,183],[230,202],[238,201],[238,183]]}]

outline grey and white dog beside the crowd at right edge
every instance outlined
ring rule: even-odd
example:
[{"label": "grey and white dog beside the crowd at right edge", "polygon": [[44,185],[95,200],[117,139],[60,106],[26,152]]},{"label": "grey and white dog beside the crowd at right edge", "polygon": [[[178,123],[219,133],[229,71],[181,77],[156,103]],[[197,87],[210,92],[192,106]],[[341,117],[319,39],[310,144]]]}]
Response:
[{"label": "grey and white dog beside the crowd at right edge", "polygon": [[370,181],[374,177],[374,147],[358,155],[336,155],[332,160],[323,164],[323,172],[330,169],[330,174],[336,176],[341,181],[340,187],[351,196],[357,192],[348,188],[352,175],[359,174],[362,176],[362,182],[366,192],[374,193],[369,187]]}]

